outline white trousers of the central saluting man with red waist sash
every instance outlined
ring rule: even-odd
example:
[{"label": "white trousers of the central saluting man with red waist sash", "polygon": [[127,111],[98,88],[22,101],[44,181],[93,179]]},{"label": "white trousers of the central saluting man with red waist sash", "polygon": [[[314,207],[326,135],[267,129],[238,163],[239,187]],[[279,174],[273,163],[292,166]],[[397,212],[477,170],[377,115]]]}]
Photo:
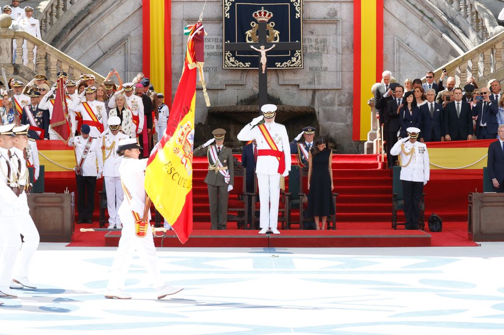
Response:
[{"label": "white trousers of the central saluting man with red waist sash", "polygon": [[257,174],[257,183],[259,185],[259,201],[261,202],[259,226],[261,228],[276,228],[278,225],[280,174]]}]

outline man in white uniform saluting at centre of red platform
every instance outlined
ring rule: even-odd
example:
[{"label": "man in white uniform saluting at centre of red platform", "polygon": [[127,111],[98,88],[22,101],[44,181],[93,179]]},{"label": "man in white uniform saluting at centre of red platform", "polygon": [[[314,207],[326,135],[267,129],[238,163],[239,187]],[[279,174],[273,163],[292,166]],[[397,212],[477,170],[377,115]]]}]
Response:
[{"label": "man in white uniform saluting at centre of red platform", "polygon": [[[278,225],[278,201],[280,198],[280,177],[290,171],[290,145],[285,126],[275,122],[277,106],[263,105],[262,116],[252,120],[238,133],[240,141],[257,141],[258,158],[256,174],[261,202],[260,234],[271,231],[280,234]],[[264,121],[263,121],[264,119]]]}]

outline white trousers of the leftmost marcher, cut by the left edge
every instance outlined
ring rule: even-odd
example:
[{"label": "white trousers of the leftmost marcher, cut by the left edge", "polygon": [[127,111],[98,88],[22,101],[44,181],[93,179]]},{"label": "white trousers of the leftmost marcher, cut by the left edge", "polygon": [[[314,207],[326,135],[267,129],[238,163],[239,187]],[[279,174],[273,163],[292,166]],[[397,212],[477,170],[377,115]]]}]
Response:
[{"label": "white trousers of the leftmost marcher, cut by the left edge", "polygon": [[9,287],[13,279],[14,266],[21,248],[21,236],[16,224],[18,209],[6,208],[0,203],[0,286]]}]

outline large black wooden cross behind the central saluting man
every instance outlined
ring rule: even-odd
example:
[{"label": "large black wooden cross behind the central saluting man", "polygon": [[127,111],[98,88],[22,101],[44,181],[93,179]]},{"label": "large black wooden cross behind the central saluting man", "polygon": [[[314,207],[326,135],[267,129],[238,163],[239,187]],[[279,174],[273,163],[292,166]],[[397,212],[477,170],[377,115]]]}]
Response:
[{"label": "large black wooden cross behind the central saluting man", "polygon": [[[241,43],[224,43],[224,53],[226,51],[254,51],[253,49],[250,48],[250,46],[254,46],[255,48],[260,48],[262,45],[264,45],[265,49],[269,49],[273,44],[275,44],[275,48],[273,48],[272,51],[274,50],[301,50],[301,42],[276,42],[276,43],[269,43],[267,40],[268,36],[268,30],[266,28],[266,25],[268,22],[258,22],[259,24],[259,32],[258,32],[258,37],[259,41],[257,43],[246,43],[246,42],[241,42]],[[254,51],[256,52],[256,51]],[[268,103],[268,67],[266,67],[266,70],[263,73],[263,68],[261,66],[261,53],[258,52],[259,56],[259,62],[258,62],[258,68],[259,68],[259,108],[261,106],[266,105]]]}]

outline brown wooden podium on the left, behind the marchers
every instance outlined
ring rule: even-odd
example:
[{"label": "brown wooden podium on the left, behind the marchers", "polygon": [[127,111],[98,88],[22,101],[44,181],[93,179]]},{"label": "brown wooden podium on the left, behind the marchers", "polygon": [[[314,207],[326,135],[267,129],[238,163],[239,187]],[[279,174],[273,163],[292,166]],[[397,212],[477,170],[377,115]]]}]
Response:
[{"label": "brown wooden podium on the left, behind the marchers", "polygon": [[71,242],[75,226],[75,195],[32,193],[28,195],[30,215],[41,242]]}]

